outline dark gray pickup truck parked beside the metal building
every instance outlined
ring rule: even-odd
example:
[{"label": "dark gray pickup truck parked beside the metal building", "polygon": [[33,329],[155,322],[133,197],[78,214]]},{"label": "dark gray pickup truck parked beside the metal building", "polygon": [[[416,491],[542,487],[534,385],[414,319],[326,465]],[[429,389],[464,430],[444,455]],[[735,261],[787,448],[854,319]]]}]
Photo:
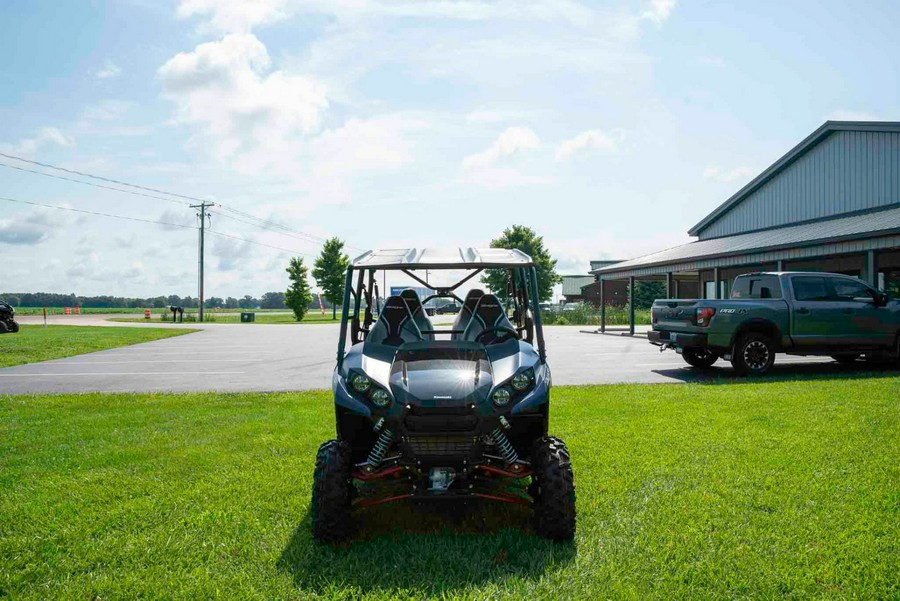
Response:
[{"label": "dark gray pickup truck parked beside the metal building", "polygon": [[776,353],[900,365],[900,301],[835,273],[749,273],[727,300],[657,300],[651,344],[700,368],[720,357],[762,374]]}]

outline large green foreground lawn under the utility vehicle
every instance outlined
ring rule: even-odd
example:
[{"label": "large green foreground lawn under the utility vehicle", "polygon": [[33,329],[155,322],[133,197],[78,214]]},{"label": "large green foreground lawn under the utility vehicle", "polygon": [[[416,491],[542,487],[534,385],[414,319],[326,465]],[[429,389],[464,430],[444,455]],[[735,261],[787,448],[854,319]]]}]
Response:
[{"label": "large green foreground lawn under the utility vehicle", "polygon": [[554,391],[574,544],[518,508],[312,541],[325,392],[0,397],[0,597],[898,598],[900,378]]}]

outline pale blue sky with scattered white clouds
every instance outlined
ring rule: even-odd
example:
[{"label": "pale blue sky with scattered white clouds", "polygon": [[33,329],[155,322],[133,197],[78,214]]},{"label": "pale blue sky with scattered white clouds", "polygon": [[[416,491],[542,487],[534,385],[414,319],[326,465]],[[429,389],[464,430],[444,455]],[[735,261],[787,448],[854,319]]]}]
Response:
[{"label": "pale blue sky with scattered white clouds", "polygon": [[[897,22],[893,1],[4,2],[0,153],[220,204],[207,296],[284,290],[330,236],[353,256],[512,224],[584,274],[689,242],[825,120],[900,120]],[[0,163],[0,198],[167,224],[0,200],[0,291],[196,296],[191,201]]]}]

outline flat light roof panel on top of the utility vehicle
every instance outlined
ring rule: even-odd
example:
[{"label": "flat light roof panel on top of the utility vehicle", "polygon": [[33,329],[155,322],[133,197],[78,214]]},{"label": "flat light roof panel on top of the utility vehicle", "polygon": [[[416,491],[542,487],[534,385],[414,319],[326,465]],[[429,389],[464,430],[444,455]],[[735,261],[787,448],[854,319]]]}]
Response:
[{"label": "flat light roof panel on top of the utility vehicle", "polygon": [[353,259],[356,269],[484,269],[529,267],[531,257],[505,248],[385,248]]}]

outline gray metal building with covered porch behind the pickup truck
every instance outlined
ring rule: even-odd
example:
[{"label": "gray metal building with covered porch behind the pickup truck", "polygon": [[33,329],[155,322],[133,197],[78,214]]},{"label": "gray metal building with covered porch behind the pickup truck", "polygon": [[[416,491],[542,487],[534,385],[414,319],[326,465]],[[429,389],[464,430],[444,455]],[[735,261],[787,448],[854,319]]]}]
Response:
[{"label": "gray metal building with covered porch behind the pickup truck", "polygon": [[827,121],[688,234],[698,239],[591,273],[631,290],[663,280],[670,298],[689,298],[688,283],[725,298],[741,273],[787,270],[845,273],[900,295],[900,123]]}]

